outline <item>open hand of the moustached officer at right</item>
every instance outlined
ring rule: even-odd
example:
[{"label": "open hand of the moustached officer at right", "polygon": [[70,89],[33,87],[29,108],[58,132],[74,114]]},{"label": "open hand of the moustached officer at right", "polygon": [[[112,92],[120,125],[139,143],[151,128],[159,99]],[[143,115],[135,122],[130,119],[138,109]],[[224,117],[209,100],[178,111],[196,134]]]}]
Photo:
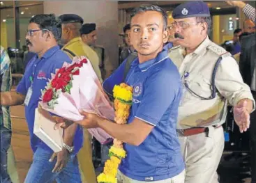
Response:
[{"label": "open hand of the moustached officer at right", "polygon": [[250,113],[247,111],[247,101],[243,100],[234,106],[234,121],[239,126],[240,132],[246,132],[250,127]]}]

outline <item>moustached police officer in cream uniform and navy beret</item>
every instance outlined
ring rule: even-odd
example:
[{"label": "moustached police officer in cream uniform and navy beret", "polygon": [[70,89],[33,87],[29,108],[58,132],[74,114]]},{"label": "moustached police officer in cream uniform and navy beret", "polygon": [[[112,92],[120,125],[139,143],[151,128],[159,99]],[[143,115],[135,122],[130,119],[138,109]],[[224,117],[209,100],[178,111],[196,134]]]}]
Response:
[{"label": "moustached police officer in cream uniform and navy beret", "polygon": [[231,54],[209,40],[211,16],[206,3],[181,4],[172,16],[176,42],[181,45],[170,49],[170,57],[183,82],[177,134],[186,163],[185,182],[216,183],[227,102],[234,106],[234,120],[245,132],[255,101]]}]

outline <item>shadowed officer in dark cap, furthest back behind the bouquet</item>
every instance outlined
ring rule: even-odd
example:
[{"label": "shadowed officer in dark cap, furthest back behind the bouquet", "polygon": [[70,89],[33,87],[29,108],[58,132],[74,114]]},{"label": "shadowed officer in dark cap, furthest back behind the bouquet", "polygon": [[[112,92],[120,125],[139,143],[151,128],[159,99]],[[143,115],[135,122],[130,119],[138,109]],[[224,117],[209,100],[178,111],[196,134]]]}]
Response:
[{"label": "shadowed officer in dark cap, furthest back behind the bouquet", "polygon": [[96,52],[99,58],[99,67],[103,79],[107,78],[112,74],[113,68],[110,60],[107,56],[106,50],[103,47],[96,46],[97,31],[96,24],[83,24],[80,29],[82,41],[91,47]]}]

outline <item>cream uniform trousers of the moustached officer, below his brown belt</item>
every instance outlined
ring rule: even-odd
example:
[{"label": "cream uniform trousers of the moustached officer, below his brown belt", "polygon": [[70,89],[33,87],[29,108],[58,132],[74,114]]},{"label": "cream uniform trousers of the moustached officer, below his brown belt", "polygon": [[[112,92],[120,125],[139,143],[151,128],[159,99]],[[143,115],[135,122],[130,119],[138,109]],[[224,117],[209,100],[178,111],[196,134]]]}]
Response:
[{"label": "cream uniform trousers of the moustached officer, below his brown belt", "polygon": [[209,127],[209,132],[193,136],[179,135],[186,164],[185,183],[217,183],[216,170],[224,150],[223,127]]}]

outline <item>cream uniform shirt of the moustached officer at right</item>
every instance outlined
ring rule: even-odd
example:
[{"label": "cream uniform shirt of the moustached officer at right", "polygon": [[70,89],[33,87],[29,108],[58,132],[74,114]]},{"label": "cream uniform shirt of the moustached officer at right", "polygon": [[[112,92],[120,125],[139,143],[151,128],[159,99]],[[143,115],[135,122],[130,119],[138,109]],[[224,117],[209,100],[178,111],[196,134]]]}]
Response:
[{"label": "cream uniform shirt of the moustached officer at right", "polygon": [[[243,83],[239,72],[239,65],[225,49],[211,42],[207,37],[193,53],[184,55],[182,47],[170,49],[170,58],[179,68],[183,82],[183,97],[179,105],[178,129],[190,127],[207,127],[221,125],[225,122],[227,101],[236,105],[242,99],[253,100],[249,86]],[[193,93],[202,97],[211,96],[211,76],[213,68],[222,56],[218,65],[215,85],[218,90],[212,100],[202,100]],[[184,83],[188,83],[188,88]],[[254,109],[255,109],[255,101]]]}]

